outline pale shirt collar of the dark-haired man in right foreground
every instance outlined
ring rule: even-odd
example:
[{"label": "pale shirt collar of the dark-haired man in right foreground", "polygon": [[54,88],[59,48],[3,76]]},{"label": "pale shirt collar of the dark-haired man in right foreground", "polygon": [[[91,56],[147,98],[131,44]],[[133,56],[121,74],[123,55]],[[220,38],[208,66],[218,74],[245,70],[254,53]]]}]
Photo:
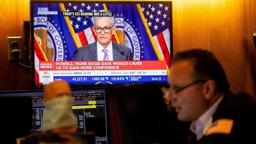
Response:
[{"label": "pale shirt collar of the dark-haired man in right foreground", "polygon": [[190,130],[196,135],[196,139],[199,140],[203,137],[206,131],[212,125],[212,116],[217,107],[221,103],[224,95],[222,95],[207,111],[205,111],[196,121],[193,121],[190,125]]}]

